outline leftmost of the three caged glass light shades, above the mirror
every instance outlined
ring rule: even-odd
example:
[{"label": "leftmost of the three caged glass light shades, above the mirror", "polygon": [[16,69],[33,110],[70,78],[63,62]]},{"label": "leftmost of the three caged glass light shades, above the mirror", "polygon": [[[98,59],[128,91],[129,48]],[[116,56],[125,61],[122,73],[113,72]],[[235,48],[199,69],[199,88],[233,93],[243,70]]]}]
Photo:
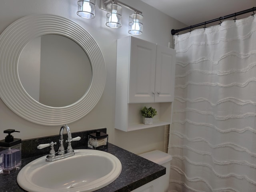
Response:
[{"label": "leftmost of the three caged glass light shades, above the mirror", "polygon": [[95,0],[79,0],[76,14],[82,18],[92,19],[95,17]]}]

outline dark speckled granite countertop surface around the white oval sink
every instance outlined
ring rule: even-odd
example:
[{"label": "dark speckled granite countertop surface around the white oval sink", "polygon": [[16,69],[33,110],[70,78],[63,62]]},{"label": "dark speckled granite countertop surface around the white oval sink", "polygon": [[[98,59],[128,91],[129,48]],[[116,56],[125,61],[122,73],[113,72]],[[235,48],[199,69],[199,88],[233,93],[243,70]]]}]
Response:
[{"label": "dark speckled granite countertop surface around the white oval sink", "polygon": [[[81,146],[78,148],[86,149],[87,147]],[[114,182],[104,188],[96,190],[96,192],[130,192],[164,175],[166,172],[165,167],[110,143],[108,144],[108,148],[102,149],[102,151],[109,152],[120,160],[122,163],[122,172]],[[22,158],[22,167],[40,156]],[[20,188],[16,181],[18,172],[19,170],[8,175],[0,174],[0,192],[25,191]]]}]

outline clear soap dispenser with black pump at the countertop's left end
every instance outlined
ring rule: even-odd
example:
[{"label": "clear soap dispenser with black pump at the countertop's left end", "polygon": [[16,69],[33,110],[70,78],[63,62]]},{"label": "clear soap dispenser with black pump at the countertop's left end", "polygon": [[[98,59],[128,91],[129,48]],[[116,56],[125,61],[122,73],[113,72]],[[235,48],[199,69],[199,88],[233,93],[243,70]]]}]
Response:
[{"label": "clear soap dispenser with black pump at the countertop's left end", "polygon": [[21,166],[21,139],[13,138],[14,129],[4,130],[8,135],[0,140],[0,173],[10,174]]}]

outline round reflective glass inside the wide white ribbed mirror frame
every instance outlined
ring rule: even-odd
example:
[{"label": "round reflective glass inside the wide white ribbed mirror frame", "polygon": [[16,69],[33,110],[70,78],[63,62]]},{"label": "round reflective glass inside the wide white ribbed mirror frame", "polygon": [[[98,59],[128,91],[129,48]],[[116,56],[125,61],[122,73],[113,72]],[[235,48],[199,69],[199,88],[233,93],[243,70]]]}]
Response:
[{"label": "round reflective glass inside the wide white ribbed mirror frame", "polygon": [[92,80],[92,66],[76,42],[48,34],[24,47],[18,60],[18,75],[34,100],[46,106],[63,107],[86,93]]}]

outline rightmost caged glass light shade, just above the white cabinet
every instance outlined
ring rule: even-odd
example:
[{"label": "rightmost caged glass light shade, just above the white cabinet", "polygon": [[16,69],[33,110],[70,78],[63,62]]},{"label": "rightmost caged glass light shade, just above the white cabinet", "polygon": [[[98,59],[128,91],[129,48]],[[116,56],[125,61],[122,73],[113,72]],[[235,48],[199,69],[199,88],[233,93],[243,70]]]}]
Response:
[{"label": "rightmost caged glass light shade, just above the white cabinet", "polygon": [[128,33],[132,35],[142,34],[143,27],[143,15],[140,13],[133,13],[129,16]]}]

